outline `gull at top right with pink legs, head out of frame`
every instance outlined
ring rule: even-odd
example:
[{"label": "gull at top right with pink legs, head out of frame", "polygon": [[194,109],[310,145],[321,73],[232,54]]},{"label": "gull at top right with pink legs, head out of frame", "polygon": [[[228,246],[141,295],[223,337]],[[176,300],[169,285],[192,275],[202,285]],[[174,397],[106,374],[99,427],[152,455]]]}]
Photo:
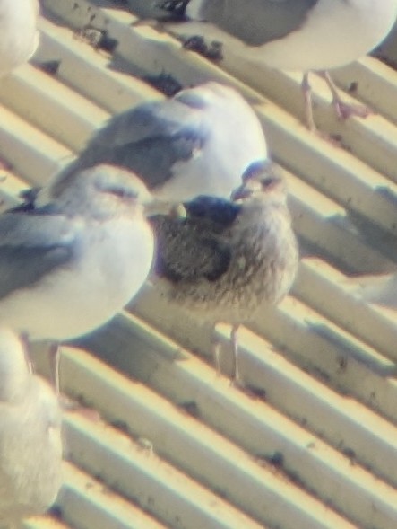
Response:
[{"label": "gull at top right with pink legs, head out of frame", "polygon": [[[304,72],[306,124],[315,130],[308,74],[324,77],[340,119],[366,117],[369,110],[341,101],[328,70],[365,56],[391,31],[397,0],[166,0],[181,31],[202,33],[252,64]],[[194,23],[201,21],[201,24]]]}]

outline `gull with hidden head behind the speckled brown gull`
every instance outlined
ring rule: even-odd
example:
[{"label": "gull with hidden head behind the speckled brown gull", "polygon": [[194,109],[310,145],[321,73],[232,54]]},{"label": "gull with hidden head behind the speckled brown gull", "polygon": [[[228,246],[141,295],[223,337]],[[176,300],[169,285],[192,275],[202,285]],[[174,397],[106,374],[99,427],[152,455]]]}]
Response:
[{"label": "gull with hidden head behind the speckled brown gull", "polygon": [[133,171],[165,203],[202,194],[229,198],[246,168],[266,160],[254,110],[233,88],[210,82],[110,119],[75,162],[30,199],[46,204],[80,178],[82,169],[98,163]]}]

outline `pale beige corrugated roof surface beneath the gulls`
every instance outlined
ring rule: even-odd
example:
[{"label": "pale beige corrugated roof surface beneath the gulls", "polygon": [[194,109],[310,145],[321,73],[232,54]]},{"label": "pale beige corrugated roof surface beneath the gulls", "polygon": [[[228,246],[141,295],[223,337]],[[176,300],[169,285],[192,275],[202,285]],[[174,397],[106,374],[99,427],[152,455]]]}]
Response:
[{"label": "pale beige corrugated roof surface beneath the gulls", "polygon": [[[59,67],[22,66],[0,83],[0,154],[13,167],[4,204],[69,163],[110,114],[163,97],[143,75],[223,80],[253,102],[287,174],[304,257],[292,295],[241,332],[241,372],[255,392],[216,375],[211,329],[151,287],[85,340],[87,352],[64,348],[65,392],[97,411],[65,414],[58,507],[27,526],[395,529],[397,322],[358,302],[346,278],[397,261],[397,72],[367,57],[335,73],[378,110],[346,123],[315,80],[315,119],[341,136],[338,148],[302,126],[300,75],[222,70],[132,25],[122,2],[42,4],[37,58]],[[87,24],[118,41],[113,55],[78,37]],[[230,373],[229,327],[217,336]]]}]

